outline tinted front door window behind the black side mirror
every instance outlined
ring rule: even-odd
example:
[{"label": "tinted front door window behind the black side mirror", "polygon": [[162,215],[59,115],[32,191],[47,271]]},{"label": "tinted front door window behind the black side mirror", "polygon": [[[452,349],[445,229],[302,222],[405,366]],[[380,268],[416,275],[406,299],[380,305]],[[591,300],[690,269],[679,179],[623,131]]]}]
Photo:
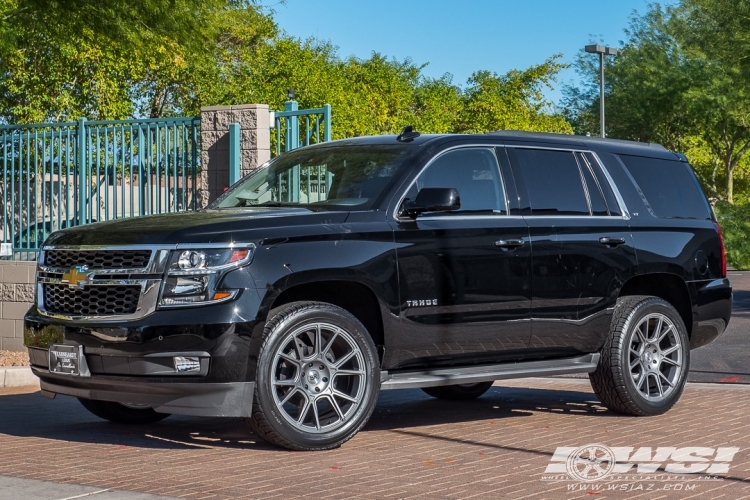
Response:
[{"label": "tinted front door window behind the black side mirror", "polygon": [[458,190],[461,209],[449,213],[505,213],[500,167],[491,149],[458,149],[439,156],[417,178],[416,190],[426,187]]}]

